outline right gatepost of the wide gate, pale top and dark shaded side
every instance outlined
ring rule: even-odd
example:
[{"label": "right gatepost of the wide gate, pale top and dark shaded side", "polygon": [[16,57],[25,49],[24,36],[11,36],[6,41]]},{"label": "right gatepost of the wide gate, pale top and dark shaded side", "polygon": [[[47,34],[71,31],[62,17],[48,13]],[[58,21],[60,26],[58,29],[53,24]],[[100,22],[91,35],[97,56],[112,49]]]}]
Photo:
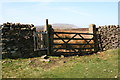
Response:
[{"label": "right gatepost of the wide gate, pale top and dark shaded side", "polygon": [[98,51],[98,36],[97,36],[97,31],[96,31],[96,25],[95,24],[90,24],[89,25],[89,33],[93,33],[94,35],[93,40],[94,40],[94,52]]}]

